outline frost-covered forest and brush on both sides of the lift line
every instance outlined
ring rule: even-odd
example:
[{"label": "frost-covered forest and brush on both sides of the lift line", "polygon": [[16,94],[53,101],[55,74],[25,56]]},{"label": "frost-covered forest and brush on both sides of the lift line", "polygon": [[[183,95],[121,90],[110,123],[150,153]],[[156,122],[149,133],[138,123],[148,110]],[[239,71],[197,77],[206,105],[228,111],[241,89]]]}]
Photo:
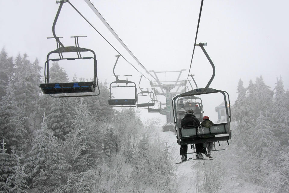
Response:
[{"label": "frost-covered forest and brush on both sides of the lift line", "polygon": [[[37,59],[13,59],[2,49],[0,68],[0,192],[180,192],[179,147],[152,132],[158,119],[112,109],[106,82],[97,97],[52,98],[39,88]],[[50,71],[51,82],[69,80],[57,62]],[[281,77],[274,88],[262,76],[236,86],[230,145],[213,161],[188,162],[194,180],[187,192],[287,192],[289,91]]]}]

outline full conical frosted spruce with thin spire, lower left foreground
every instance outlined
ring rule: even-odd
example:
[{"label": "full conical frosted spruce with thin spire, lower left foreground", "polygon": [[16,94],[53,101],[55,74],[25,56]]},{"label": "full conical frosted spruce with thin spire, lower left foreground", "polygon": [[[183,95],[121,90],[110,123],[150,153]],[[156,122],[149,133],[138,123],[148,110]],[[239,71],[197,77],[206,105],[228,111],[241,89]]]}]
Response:
[{"label": "full conical frosted spruce with thin spire, lower left foreground", "polygon": [[43,118],[41,129],[37,131],[33,147],[27,153],[26,173],[31,186],[43,190],[57,187],[67,164],[60,153],[60,145],[48,130],[46,118]]}]

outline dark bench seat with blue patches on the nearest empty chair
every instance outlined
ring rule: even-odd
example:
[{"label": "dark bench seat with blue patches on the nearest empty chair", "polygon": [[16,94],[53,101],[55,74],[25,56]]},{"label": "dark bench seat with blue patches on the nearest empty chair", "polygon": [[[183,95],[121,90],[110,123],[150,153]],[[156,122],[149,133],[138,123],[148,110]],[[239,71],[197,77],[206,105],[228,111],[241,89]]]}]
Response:
[{"label": "dark bench seat with blue patches on the nearest empty chair", "polygon": [[40,87],[44,94],[86,93],[86,92],[95,92],[96,83],[95,81],[46,83],[40,84]]}]

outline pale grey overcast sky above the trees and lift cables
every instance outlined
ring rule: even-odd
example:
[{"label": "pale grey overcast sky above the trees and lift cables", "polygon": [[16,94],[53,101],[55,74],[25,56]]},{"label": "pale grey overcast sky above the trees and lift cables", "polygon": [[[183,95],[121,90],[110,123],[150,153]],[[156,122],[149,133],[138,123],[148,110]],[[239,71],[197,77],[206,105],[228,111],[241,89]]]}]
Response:
[{"label": "pale grey overcast sky above the trees and lift cables", "polygon": [[[125,58],[152,80],[84,1],[70,2]],[[187,78],[200,0],[91,2],[145,68],[155,71],[187,69],[181,79]],[[37,57],[44,66],[47,53],[56,49],[55,40],[46,37],[53,36],[52,24],[58,6],[55,0],[0,0],[0,47],[14,58],[18,53],[26,52],[30,61]],[[247,87],[250,79],[255,81],[256,76],[262,75],[265,84],[273,88],[276,77],[282,76],[284,89],[288,89],[288,7],[289,2],[285,0],[204,1],[197,43],[208,43],[205,49],[216,67],[211,88],[226,90],[231,103],[237,98],[239,78]],[[61,39],[64,46],[74,45],[70,36],[86,35],[79,39],[79,45],[96,52],[99,80],[114,81],[111,75],[117,52],[68,3],[62,8],[55,31],[57,36],[64,37]],[[65,70],[70,78],[74,73],[79,77],[87,73],[84,67],[65,67]],[[116,74],[131,74],[131,80],[138,84],[140,74],[121,58]],[[199,47],[196,47],[190,74],[195,74],[198,87],[205,87],[212,75],[210,63]],[[177,75],[168,74],[166,79],[174,80]],[[141,87],[149,87],[149,81],[143,79]],[[143,114],[148,116],[148,113]],[[165,116],[160,116],[165,120]]]}]

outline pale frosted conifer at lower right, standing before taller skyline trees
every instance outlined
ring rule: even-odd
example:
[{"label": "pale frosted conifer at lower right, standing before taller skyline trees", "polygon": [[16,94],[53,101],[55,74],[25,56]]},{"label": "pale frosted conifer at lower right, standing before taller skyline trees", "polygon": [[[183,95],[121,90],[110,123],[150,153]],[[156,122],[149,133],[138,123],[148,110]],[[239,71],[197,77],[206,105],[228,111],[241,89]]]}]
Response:
[{"label": "pale frosted conifer at lower right, standing before taller skyline trees", "polygon": [[[265,117],[262,111],[256,121],[256,127],[252,135],[252,154],[255,155],[251,159],[252,170],[248,172],[251,182],[262,185],[270,192],[279,192],[284,178],[280,169],[277,152],[282,153],[278,139],[272,132],[270,118]],[[272,183],[275,181],[275,183]]]}]

